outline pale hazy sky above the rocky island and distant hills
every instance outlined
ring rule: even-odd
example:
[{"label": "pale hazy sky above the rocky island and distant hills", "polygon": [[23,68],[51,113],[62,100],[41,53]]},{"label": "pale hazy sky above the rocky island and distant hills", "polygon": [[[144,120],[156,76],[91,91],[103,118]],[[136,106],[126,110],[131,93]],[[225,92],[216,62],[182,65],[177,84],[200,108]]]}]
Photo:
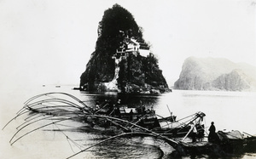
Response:
[{"label": "pale hazy sky above the rocky island and distant hills", "polygon": [[79,84],[115,3],[143,27],[167,81],[189,56],[256,65],[256,0],[0,0],[0,87]]}]

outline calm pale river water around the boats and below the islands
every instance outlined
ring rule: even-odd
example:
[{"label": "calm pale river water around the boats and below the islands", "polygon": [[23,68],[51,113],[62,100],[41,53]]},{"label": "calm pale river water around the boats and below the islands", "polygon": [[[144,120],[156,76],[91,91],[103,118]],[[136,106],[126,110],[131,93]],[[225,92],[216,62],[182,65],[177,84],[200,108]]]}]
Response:
[{"label": "calm pale river water around the boats and below the islands", "polygon": [[[1,128],[22,108],[26,99],[38,94],[64,92],[73,94],[89,106],[95,106],[96,101],[101,102],[105,99],[111,99],[113,103],[121,99],[123,105],[153,107],[160,116],[169,116],[172,111],[172,114],[177,116],[177,120],[202,111],[206,114],[204,122],[207,127],[211,122],[215,122],[217,130],[239,130],[256,134],[256,93],[173,90],[172,93],[160,95],[120,95],[116,93],[89,94],[72,88],[73,86],[56,88],[47,85],[2,90],[0,92],[0,96],[3,97],[0,111]],[[26,135],[14,145],[9,145],[9,139],[16,132],[15,128],[25,118],[26,116],[20,116],[1,130],[0,158],[67,158],[79,150],[108,138],[108,132],[101,129],[90,128],[87,132],[67,131],[63,133],[51,131],[54,126],[49,126]],[[68,124],[82,123],[70,122]],[[172,150],[171,146],[159,139],[127,137],[96,145],[73,158],[170,158]],[[195,158],[208,157],[196,156]],[[233,158],[256,158],[256,153],[233,156]]]}]

